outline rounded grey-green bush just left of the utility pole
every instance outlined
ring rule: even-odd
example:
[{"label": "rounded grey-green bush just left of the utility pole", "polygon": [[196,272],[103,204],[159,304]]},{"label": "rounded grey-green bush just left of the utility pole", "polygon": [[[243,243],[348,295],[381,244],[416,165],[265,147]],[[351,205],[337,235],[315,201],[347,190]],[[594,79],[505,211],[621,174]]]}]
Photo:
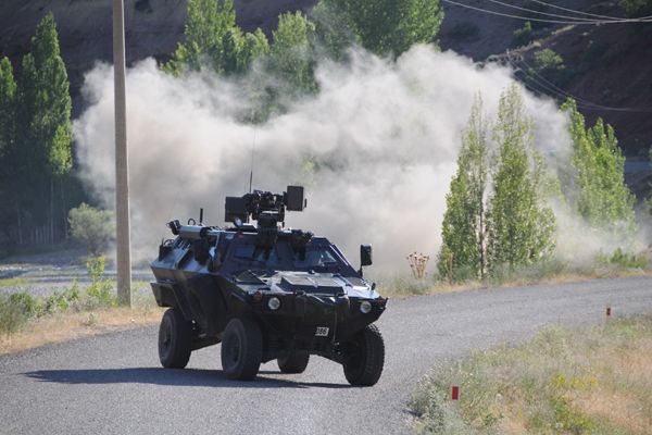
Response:
[{"label": "rounded grey-green bush just left of the utility pole", "polygon": [[89,252],[98,257],[113,238],[115,224],[113,215],[106,210],[99,210],[82,203],[68,213],[71,236],[86,246]]}]

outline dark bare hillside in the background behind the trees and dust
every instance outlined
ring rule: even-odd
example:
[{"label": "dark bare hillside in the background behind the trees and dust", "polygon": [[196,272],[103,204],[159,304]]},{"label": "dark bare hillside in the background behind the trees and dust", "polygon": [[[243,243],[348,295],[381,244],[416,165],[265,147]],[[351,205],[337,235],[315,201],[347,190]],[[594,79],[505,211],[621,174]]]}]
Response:
[{"label": "dark bare hillside in the background behind the trees and dust", "polygon": [[[504,0],[523,5],[524,1]],[[527,14],[487,0],[463,3],[500,13]],[[262,27],[267,34],[279,13],[309,11],[316,0],[235,0],[238,23],[247,30]],[[554,0],[552,3],[591,13],[622,15],[616,1]],[[484,61],[510,62],[521,77],[541,94],[563,99],[574,96],[589,119],[603,116],[616,127],[628,156],[647,154],[652,145],[652,23],[611,26],[537,26],[536,41],[516,48],[514,30],[522,20],[471,11],[442,3],[446,18],[440,33],[442,49],[452,49]],[[2,0],[0,7],[0,55],[9,55],[16,67],[28,49],[37,22],[52,11],[59,23],[61,50],[72,82],[75,113],[83,102],[79,88],[84,72],[98,61],[111,61],[111,2],[105,0]],[[560,10],[549,10],[561,13]],[[537,15],[530,15],[537,16]],[[186,0],[126,0],[128,62],[153,55],[166,59],[181,40]],[[550,79],[554,87],[532,77],[534,57],[551,48],[563,59],[563,76]],[[537,73],[538,74],[538,73]],[[547,80],[550,77],[546,77]],[[528,78],[529,77],[529,78]]]}]

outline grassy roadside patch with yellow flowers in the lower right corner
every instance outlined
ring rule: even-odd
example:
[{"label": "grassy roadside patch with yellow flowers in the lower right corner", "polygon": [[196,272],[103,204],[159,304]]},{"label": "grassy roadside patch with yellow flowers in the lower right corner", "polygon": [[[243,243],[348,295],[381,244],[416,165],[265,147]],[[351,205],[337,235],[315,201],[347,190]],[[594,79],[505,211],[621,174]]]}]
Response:
[{"label": "grassy roadside patch with yellow flowers in the lower right corner", "polygon": [[[652,315],[551,327],[435,368],[410,407],[417,433],[649,434]],[[460,401],[450,400],[460,385]]]}]

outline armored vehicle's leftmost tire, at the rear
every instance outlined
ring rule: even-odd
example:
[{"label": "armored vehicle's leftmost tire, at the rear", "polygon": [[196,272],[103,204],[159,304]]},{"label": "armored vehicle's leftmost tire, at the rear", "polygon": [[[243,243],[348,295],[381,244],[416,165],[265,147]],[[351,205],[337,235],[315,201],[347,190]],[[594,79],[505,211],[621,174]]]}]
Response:
[{"label": "armored vehicle's leftmost tire, at the rear", "polygon": [[159,359],[166,369],[188,364],[192,346],[192,324],[176,308],[165,311],[159,327]]}]

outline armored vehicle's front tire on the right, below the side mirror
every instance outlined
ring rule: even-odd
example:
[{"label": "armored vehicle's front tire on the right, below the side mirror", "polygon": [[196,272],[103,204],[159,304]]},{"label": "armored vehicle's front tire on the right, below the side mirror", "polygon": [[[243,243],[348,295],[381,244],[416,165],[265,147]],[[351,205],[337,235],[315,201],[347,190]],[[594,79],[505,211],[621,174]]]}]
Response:
[{"label": "armored vehicle's front tire on the right, below the side mirror", "polygon": [[344,376],[351,385],[372,386],[385,364],[385,341],[376,325],[367,325],[344,346]]}]

